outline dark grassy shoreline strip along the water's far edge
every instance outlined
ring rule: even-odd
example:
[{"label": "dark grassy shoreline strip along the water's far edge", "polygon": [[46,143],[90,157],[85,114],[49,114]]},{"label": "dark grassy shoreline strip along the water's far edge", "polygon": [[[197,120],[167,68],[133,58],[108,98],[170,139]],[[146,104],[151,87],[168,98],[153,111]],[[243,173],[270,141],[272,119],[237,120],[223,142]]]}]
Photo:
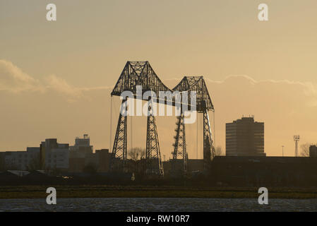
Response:
[{"label": "dark grassy shoreline strip along the water's far edge", "polygon": [[[0,186],[1,199],[46,198],[52,186],[59,198],[258,198],[258,188],[176,186]],[[317,189],[270,189],[269,198],[317,198]]]}]

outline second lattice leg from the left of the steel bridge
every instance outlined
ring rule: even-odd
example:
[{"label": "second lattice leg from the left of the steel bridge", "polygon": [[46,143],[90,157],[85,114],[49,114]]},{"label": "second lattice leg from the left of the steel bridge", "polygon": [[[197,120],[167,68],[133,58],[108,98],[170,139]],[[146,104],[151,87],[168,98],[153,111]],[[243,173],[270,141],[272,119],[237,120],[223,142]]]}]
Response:
[{"label": "second lattice leg from the left of the steel bridge", "polygon": [[[150,109],[151,107],[149,107]],[[146,174],[164,176],[163,163],[160,153],[160,143],[157,136],[155,117],[148,116],[148,126],[146,134]]]}]

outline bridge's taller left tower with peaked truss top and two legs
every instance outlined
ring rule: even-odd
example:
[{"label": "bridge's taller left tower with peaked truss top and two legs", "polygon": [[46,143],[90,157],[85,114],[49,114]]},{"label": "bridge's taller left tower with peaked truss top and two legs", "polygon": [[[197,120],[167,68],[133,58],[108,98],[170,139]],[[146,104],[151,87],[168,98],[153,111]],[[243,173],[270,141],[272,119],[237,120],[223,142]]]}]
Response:
[{"label": "bridge's taller left tower with peaked truss top and two legs", "polygon": [[[152,90],[158,93],[159,90],[167,91],[169,88],[165,86],[160,78],[157,77],[155,71],[148,63],[148,61],[128,61],[124,66],[124,70],[116,82],[111,95],[121,96],[124,91],[130,91],[132,98],[142,100],[143,93],[139,96],[137,93],[137,85],[143,89],[143,93]],[[151,102],[152,102],[151,97]],[[157,102],[157,100],[155,100]],[[122,101],[122,108],[126,108],[127,101]],[[127,110],[127,109],[126,109]],[[155,174],[160,177],[164,175],[164,169],[160,153],[160,143],[157,135],[157,127],[155,123],[155,116],[152,114],[152,105],[149,105],[148,119],[147,119],[147,137],[146,137],[146,174]],[[127,157],[127,117],[119,114],[119,121],[116,128],[116,136],[114,138],[114,145],[112,149],[112,159],[110,161],[110,169],[114,171],[126,171],[126,157]]]}]

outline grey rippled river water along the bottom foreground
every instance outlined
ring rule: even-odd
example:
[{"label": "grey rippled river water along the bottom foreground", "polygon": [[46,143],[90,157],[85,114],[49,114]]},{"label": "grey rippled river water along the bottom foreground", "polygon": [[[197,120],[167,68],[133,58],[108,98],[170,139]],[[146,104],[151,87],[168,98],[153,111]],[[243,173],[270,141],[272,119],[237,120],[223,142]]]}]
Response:
[{"label": "grey rippled river water along the bottom foreground", "polygon": [[0,211],[317,211],[317,199],[254,198],[58,198],[1,199]]}]

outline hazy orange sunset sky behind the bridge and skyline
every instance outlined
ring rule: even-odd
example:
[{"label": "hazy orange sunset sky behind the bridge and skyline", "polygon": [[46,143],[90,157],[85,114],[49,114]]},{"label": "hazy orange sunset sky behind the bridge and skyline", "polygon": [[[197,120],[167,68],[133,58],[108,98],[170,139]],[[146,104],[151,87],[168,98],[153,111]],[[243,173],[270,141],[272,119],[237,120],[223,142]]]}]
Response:
[{"label": "hazy orange sunset sky behind the bridge and skyline", "polygon": [[[49,3],[56,21],[46,20]],[[261,3],[266,22],[258,20]],[[265,153],[282,155],[285,145],[293,156],[294,134],[300,144],[317,143],[316,11],[316,0],[0,0],[0,151],[45,138],[72,145],[83,133],[94,148],[109,148],[109,93],[126,61],[140,60],[169,88],[185,75],[204,76],[222,149],[225,123],[254,115],[265,122]],[[131,120],[128,148],[145,148],[146,117]],[[166,159],[175,121],[157,117]],[[196,126],[186,127],[190,158]]]}]

